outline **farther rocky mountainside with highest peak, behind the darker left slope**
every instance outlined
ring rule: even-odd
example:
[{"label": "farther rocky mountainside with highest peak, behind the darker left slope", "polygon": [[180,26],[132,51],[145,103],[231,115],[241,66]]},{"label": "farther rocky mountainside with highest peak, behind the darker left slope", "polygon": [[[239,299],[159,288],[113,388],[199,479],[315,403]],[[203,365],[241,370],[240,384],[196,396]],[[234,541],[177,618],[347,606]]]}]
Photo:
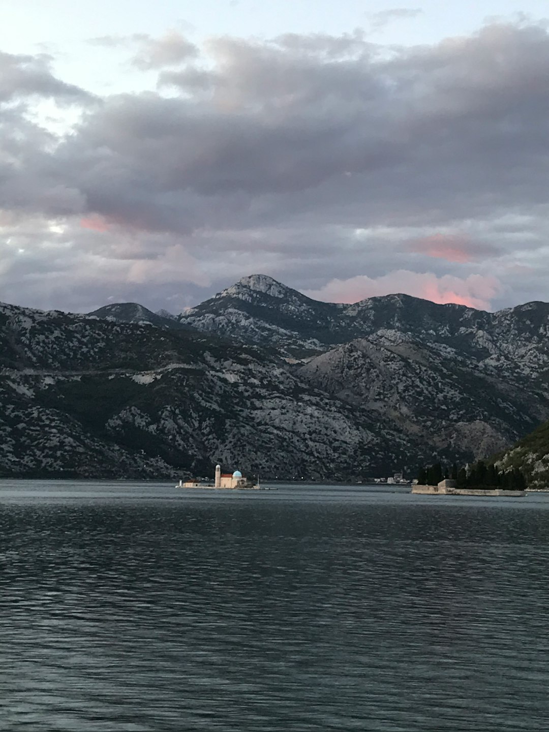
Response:
[{"label": "farther rocky mountainside with highest peak, behind the darker left slope", "polygon": [[498,451],[549,417],[547,303],[485,313],[400,294],[337,305],[253,275],[180,319],[301,360],[315,388],[459,459]]}]

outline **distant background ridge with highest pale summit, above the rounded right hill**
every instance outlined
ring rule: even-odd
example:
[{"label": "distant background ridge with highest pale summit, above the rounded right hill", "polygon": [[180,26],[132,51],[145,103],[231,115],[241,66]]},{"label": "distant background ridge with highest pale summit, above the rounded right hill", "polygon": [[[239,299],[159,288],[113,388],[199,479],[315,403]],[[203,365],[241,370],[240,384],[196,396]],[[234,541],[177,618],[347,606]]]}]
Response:
[{"label": "distant background ridge with highest pale summit, above the rounded right hill", "polygon": [[549,304],[486,313],[463,305],[436,305],[409,295],[371,297],[351,305],[318,302],[266,275],[243,277],[179,315],[202,332],[275,346],[287,356],[319,353],[356,338],[386,343],[418,341],[452,350],[486,367],[506,359],[534,376],[549,367]]}]

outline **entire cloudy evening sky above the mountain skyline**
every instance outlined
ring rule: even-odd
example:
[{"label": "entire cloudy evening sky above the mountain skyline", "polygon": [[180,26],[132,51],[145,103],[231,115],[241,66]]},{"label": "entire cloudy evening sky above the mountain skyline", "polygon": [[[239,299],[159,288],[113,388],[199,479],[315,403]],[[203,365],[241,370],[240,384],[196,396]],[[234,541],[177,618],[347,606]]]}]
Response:
[{"label": "entire cloudy evening sky above the mountain skyline", "polygon": [[549,0],[0,0],[0,300],[549,300]]}]

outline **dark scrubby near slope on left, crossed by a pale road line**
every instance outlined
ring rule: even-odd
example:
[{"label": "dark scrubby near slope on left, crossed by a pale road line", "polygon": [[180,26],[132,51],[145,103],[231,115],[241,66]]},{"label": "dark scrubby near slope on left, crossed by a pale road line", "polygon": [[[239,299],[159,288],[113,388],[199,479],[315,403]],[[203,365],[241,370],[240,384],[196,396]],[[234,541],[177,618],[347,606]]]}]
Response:
[{"label": "dark scrubby near slope on left, crossed by a pale road line", "polygon": [[4,475],[365,477],[429,454],[260,348],[10,305],[0,407]]}]

